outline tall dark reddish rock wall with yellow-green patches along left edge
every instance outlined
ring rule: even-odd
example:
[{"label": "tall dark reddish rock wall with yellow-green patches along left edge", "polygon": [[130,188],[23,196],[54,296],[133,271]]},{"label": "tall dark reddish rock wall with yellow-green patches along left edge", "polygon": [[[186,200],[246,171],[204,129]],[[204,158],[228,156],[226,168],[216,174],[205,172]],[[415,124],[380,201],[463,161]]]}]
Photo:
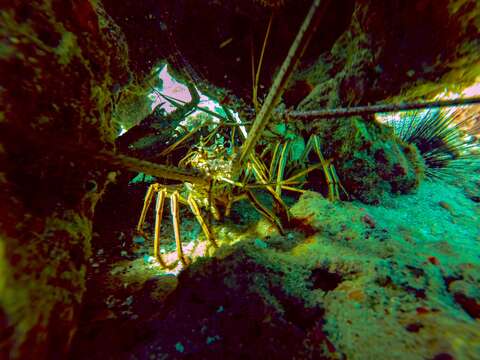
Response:
[{"label": "tall dark reddish rock wall with yellow-green patches along left edge", "polygon": [[[64,355],[108,170],[122,33],[96,1],[1,1],[0,358]],[[83,149],[77,151],[76,149]]]}]

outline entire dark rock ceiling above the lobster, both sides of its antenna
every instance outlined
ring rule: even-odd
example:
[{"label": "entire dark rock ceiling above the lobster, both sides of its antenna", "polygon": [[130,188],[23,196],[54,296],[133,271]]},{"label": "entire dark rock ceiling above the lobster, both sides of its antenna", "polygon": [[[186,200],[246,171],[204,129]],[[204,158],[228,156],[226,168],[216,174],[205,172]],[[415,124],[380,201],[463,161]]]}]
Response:
[{"label": "entire dark rock ceiling above the lobster, both sides of its antenna", "polygon": [[[258,62],[270,16],[261,94],[270,86],[310,3],[126,0],[118,6],[104,1],[126,34],[136,73],[147,74],[159,59],[170,59],[245,100],[251,100],[252,45]],[[471,82],[478,74],[480,5],[475,0],[322,4],[320,26],[297,76],[314,88],[302,108],[367,104],[399,94],[405,98],[404,92],[413,86],[416,91],[408,96],[418,99],[437,94],[447,84]],[[429,87],[420,89],[426,83]]]}]

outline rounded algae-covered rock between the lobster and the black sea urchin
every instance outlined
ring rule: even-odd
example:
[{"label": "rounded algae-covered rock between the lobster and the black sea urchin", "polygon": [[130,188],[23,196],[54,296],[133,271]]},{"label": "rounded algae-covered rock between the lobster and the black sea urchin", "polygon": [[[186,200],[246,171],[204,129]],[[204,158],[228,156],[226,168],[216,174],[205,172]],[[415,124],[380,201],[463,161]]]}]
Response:
[{"label": "rounded algae-covered rock between the lobster and the black sea urchin", "polygon": [[377,203],[385,193],[406,194],[425,178],[424,160],[415,146],[392,131],[360,117],[320,122],[324,156],[332,159],[349,195]]}]

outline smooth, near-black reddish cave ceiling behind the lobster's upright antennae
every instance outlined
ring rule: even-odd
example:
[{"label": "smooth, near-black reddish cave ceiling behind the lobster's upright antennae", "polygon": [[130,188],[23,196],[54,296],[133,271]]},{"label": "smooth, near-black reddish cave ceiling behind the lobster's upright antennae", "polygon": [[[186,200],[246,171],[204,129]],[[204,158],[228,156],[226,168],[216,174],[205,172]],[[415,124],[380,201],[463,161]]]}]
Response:
[{"label": "smooth, near-black reddish cave ceiling behind the lobster's upright antennae", "polygon": [[[124,30],[131,67],[146,74],[159,59],[186,67],[194,80],[231,90],[251,104],[252,49],[258,64],[270,16],[272,29],[260,76],[263,96],[293,41],[310,0],[126,0],[105,7]],[[330,49],[350,22],[353,1],[324,1],[326,14],[305,59]]]}]

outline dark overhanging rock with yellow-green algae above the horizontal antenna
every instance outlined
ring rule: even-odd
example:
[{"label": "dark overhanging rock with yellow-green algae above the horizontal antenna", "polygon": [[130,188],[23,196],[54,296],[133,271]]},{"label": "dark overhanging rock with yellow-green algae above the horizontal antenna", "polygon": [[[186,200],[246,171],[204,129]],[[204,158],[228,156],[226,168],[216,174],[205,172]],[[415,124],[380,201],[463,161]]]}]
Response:
[{"label": "dark overhanging rock with yellow-green algae above the horizontal antenna", "polygon": [[300,76],[315,87],[300,108],[418,99],[468,85],[478,76],[479,16],[471,0],[357,1],[331,51]]}]

